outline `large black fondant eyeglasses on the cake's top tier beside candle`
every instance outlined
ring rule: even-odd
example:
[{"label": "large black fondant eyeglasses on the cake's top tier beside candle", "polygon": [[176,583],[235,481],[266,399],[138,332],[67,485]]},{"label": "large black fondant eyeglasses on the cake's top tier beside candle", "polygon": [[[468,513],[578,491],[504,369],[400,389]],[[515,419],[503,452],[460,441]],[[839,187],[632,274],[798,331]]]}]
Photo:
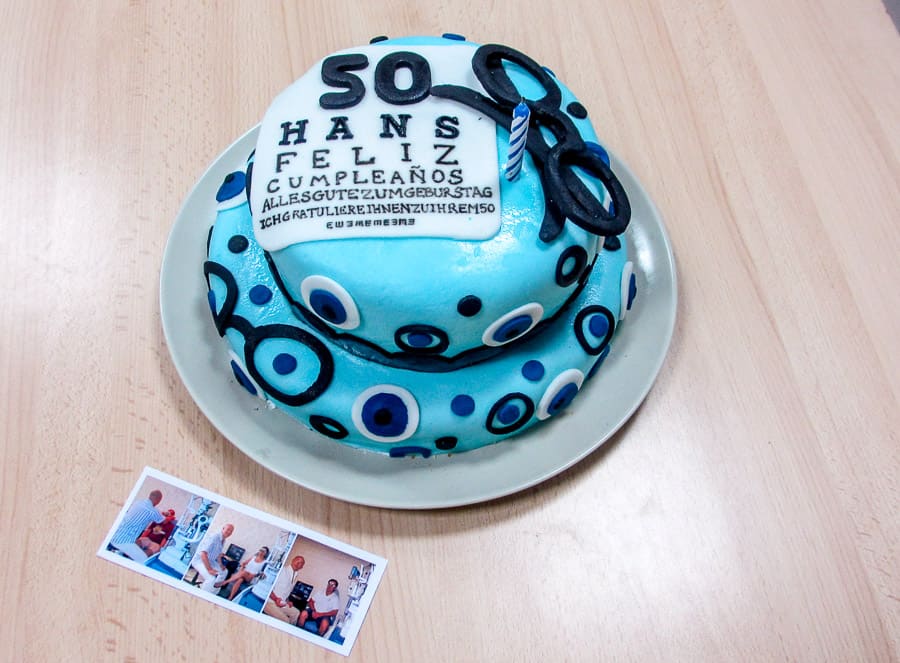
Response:
[{"label": "large black fondant eyeglasses on the cake's top tier beside candle", "polygon": [[[519,65],[543,87],[545,94],[540,99],[524,101],[531,110],[531,123],[549,129],[557,140],[548,145],[540,131],[528,132],[526,140],[545,192],[541,240],[549,243],[558,237],[566,219],[595,235],[621,234],[631,220],[628,195],[612,170],[600,165],[599,156],[587,148],[572,118],[559,108],[559,86],[534,60],[508,46],[485,44],[475,51],[472,70],[491,98],[460,85],[435,85],[431,94],[473,108],[508,130],[513,108],[523,99],[504,69],[504,61]],[[573,170],[576,167],[600,180],[612,198],[612,213],[581,181]]]}]

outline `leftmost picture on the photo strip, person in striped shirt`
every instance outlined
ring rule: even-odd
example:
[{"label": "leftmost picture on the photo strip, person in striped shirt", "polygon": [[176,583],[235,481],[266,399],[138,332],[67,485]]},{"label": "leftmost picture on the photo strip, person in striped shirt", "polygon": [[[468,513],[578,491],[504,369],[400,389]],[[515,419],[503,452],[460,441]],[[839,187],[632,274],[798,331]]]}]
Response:
[{"label": "leftmost picture on the photo strip, person in striped shirt", "polygon": [[218,506],[182,486],[147,476],[126,505],[106,548],[181,579]]}]

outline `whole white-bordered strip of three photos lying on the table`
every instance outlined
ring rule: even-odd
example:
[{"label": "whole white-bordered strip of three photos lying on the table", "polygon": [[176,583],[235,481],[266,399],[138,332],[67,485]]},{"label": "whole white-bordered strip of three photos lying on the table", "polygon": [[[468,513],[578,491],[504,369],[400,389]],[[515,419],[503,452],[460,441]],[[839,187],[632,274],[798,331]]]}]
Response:
[{"label": "whole white-bordered strip of three photos lying on the table", "polygon": [[153,468],[97,554],[344,656],[387,566]]}]

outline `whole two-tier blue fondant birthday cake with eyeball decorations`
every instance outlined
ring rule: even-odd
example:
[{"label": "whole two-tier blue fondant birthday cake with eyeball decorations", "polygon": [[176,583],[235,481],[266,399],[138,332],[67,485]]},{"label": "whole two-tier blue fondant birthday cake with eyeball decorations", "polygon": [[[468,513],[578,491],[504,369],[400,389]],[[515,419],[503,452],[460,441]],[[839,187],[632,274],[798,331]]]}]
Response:
[{"label": "whole two-tier blue fondant birthday cake with eyeball decorations", "polygon": [[456,35],[323,59],[216,204],[223,375],[322,443],[428,457],[549,420],[636,294],[587,110],[528,56]]}]

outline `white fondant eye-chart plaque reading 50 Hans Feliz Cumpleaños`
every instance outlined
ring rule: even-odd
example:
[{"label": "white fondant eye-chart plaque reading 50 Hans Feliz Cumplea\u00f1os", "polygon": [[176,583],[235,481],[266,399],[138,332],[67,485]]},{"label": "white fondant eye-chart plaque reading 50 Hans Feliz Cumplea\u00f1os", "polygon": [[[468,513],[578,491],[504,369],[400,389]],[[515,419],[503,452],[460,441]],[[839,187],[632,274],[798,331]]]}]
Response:
[{"label": "white fondant eye-chart plaque reading 50 Hans Feliz Cumplea\u00f1os", "polygon": [[496,123],[428,93],[442,84],[482,91],[474,52],[467,44],[349,49],[279,95],[253,164],[260,245],[496,234]]}]

